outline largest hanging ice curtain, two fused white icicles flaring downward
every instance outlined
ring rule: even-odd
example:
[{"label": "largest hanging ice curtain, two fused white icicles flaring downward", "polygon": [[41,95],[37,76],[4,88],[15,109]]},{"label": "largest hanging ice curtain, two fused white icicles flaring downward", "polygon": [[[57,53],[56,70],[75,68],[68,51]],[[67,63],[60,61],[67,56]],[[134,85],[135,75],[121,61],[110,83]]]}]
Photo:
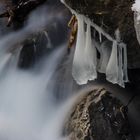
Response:
[{"label": "largest hanging ice curtain, two fused white icicles flaring downward", "polygon": [[76,82],[82,85],[97,78],[96,49],[92,44],[90,21],[85,24],[83,15],[76,14],[76,17],[78,19],[78,34],[72,74]]}]

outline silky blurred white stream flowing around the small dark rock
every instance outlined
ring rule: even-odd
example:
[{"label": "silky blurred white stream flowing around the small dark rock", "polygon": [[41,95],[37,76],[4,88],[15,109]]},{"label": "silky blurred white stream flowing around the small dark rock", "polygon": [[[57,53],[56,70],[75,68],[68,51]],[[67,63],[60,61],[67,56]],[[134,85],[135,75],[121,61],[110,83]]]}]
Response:
[{"label": "silky blurred white stream flowing around the small dark rock", "polygon": [[61,136],[63,121],[73,99],[57,102],[57,89],[55,93],[53,90],[57,87],[52,82],[65,45],[58,46],[30,70],[17,67],[21,43],[30,34],[42,31],[53,18],[61,18],[51,14],[46,18],[46,13],[38,11],[22,30],[0,38],[0,140],[65,139]]}]

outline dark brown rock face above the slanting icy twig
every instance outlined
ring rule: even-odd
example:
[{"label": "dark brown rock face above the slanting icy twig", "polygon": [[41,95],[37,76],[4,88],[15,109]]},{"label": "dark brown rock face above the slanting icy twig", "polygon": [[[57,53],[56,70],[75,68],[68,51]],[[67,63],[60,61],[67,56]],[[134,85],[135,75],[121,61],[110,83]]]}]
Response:
[{"label": "dark brown rock face above the slanting icy twig", "polygon": [[88,16],[114,37],[118,28],[121,39],[127,44],[129,68],[140,68],[140,45],[138,44],[133,12],[134,0],[66,0],[77,12]]}]

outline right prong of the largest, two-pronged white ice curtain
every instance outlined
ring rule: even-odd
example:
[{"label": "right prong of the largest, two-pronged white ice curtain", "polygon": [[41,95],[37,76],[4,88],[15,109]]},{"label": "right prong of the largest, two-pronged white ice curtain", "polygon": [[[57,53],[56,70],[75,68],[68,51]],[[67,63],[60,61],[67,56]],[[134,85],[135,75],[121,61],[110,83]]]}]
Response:
[{"label": "right prong of the largest, two-pronged white ice curtain", "polygon": [[95,45],[92,44],[91,39],[91,26],[90,21],[86,21],[87,31],[86,31],[86,46],[85,46],[85,59],[86,59],[86,72],[87,80],[95,80],[97,78],[97,54]]}]

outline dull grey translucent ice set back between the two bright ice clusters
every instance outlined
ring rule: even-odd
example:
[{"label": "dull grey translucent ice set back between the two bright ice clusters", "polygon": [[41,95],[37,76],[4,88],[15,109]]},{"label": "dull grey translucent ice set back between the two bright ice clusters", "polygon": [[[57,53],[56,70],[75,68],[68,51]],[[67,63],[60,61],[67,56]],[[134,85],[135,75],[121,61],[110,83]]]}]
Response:
[{"label": "dull grey translucent ice set back between the two bright ice clusters", "polygon": [[98,71],[100,73],[106,73],[106,68],[111,56],[112,46],[109,41],[104,41],[100,47],[101,58],[98,65]]}]

